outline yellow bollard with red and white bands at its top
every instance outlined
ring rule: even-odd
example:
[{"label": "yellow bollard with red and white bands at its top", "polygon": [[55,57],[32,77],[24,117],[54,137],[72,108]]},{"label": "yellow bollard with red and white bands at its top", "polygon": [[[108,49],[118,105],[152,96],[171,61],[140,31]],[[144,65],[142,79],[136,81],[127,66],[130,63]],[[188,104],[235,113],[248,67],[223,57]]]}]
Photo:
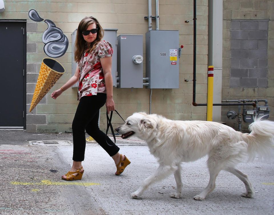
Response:
[{"label": "yellow bollard with red and white bands at its top", "polygon": [[212,121],[213,111],[213,66],[208,66],[207,72],[207,109],[206,109],[206,120]]}]

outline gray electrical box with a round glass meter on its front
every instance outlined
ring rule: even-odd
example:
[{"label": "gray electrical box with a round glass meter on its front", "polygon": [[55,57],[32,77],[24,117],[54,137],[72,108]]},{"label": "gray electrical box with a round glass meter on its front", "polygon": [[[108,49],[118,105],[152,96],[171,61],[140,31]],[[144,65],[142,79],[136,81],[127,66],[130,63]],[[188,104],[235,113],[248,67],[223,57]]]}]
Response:
[{"label": "gray electrical box with a round glass meter on its front", "polygon": [[143,36],[117,37],[117,87],[143,88]]}]

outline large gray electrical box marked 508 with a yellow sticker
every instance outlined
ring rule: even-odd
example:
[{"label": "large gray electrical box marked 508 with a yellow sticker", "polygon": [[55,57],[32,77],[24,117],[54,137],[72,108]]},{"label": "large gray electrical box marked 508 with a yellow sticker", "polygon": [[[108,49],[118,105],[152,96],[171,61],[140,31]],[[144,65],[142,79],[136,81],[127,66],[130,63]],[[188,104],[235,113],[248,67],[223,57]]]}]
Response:
[{"label": "large gray electrical box marked 508 with a yellow sticker", "polygon": [[146,33],[147,88],[179,88],[179,31]]}]

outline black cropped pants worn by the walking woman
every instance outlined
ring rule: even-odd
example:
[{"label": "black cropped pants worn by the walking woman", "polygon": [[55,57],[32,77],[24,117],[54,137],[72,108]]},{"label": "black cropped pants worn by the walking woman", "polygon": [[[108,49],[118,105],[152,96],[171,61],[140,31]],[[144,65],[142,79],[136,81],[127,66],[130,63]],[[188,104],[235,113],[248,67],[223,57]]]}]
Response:
[{"label": "black cropped pants worn by the walking woman", "polygon": [[[73,157],[74,161],[83,161],[86,149],[86,135],[90,135],[109,154],[115,155],[119,147],[99,129],[99,110],[106,103],[106,93],[84,96],[80,99],[73,122]],[[108,144],[107,144],[107,142]]]}]

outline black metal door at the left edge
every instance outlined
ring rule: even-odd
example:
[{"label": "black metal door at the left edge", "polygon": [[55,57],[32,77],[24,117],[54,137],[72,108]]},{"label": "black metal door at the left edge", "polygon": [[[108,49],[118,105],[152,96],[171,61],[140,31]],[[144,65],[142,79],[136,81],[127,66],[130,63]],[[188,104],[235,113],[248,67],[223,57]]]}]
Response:
[{"label": "black metal door at the left edge", "polygon": [[25,22],[0,21],[0,129],[25,128],[25,34]]}]

